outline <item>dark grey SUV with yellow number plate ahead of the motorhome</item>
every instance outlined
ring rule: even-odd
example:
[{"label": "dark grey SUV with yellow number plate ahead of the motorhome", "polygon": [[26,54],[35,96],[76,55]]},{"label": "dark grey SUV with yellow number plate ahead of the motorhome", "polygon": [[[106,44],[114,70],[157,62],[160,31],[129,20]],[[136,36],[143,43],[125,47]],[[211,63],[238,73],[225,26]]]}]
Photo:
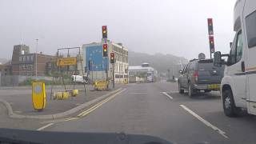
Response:
[{"label": "dark grey SUV with yellow number plate ahead of the motorhome", "polygon": [[220,90],[225,66],[214,66],[213,59],[191,60],[178,78],[178,91],[180,94],[184,90],[189,96],[193,96],[199,90],[210,92]]}]

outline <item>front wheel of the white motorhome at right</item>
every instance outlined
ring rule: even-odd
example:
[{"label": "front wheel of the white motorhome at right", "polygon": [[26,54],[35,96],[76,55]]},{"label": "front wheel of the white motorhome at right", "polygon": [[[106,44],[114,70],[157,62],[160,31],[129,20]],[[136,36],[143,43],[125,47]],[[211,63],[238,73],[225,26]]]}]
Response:
[{"label": "front wheel of the white motorhome at right", "polygon": [[231,90],[224,90],[222,94],[223,110],[226,116],[236,117],[241,111],[240,108],[234,104],[234,97]]}]

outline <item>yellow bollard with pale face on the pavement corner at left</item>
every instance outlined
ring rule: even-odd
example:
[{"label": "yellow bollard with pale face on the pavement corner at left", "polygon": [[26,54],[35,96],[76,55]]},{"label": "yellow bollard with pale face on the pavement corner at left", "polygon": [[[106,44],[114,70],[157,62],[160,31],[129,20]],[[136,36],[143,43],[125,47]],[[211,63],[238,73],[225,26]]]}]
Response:
[{"label": "yellow bollard with pale face on the pavement corner at left", "polygon": [[46,107],[46,86],[44,82],[32,83],[32,102],[34,110],[42,110]]}]

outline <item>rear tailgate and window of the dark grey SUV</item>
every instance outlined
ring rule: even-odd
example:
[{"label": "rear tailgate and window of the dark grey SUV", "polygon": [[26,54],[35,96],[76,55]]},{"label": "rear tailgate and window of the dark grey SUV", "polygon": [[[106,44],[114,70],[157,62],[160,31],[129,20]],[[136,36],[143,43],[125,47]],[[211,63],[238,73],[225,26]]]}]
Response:
[{"label": "rear tailgate and window of the dark grey SUV", "polygon": [[198,61],[198,84],[218,84],[222,82],[225,66],[214,66],[212,59]]}]

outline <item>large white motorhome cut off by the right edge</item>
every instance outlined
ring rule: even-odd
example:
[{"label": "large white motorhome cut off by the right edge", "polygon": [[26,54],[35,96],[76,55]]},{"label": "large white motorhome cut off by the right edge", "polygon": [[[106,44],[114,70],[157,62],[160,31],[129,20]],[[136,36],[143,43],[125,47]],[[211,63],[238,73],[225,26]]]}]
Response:
[{"label": "large white motorhome cut off by the right edge", "polygon": [[241,109],[256,114],[256,0],[237,0],[234,31],[230,54],[214,54],[217,65],[222,65],[222,56],[228,56],[221,94],[224,112],[229,117]]}]

